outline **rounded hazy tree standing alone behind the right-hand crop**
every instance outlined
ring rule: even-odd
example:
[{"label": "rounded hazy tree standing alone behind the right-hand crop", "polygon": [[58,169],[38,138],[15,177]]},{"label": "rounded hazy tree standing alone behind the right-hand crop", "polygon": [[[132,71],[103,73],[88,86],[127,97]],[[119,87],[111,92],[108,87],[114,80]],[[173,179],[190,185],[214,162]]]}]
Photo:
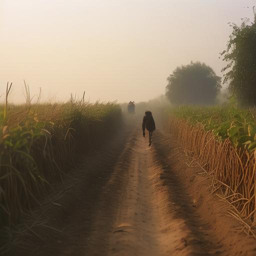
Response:
[{"label": "rounded hazy tree standing alone behind the right-hand crop", "polygon": [[177,67],[167,78],[166,97],[174,104],[213,104],[221,78],[200,62]]}]

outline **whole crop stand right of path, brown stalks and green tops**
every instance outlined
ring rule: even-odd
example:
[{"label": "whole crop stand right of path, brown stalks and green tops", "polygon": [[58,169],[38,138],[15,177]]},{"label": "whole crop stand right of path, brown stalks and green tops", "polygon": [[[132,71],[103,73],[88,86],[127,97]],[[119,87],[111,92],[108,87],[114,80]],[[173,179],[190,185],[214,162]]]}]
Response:
[{"label": "whole crop stand right of path, brown stalks and green tops", "polygon": [[235,209],[230,214],[250,225],[256,224],[256,151],[248,147],[256,137],[254,122],[244,109],[186,106],[172,109],[165,125],[190,164],[212,176],[211,191],[221,191]]}]

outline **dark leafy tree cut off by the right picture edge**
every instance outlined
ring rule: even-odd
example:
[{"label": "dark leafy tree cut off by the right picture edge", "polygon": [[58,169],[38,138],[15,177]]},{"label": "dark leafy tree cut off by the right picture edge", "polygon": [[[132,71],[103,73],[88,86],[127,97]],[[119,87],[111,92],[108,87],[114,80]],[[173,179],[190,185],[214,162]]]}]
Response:
[{"label": "dark leafy tree cut off by the right picture edge", "polygon": [[229,23],[233,28],[223,60],[227,65],[223,82],[227,82],[229,93],[242,105],[256,105],[256,12],[253,8],[254,22],[243,19],[240,26]]}]

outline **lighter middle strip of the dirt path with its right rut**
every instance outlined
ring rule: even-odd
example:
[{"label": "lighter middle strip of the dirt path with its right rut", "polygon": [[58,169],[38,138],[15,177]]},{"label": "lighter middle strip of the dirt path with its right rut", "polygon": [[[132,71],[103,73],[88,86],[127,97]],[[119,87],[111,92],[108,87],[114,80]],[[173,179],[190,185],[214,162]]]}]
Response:
[{"label": "lighter middle strip of the dirt path with its right rut", "polygon": [[[94,216],[95,229],[89,237],[92,242],[85,251],[92,255],[217,255],[219,245],[205,240],[197,216],[188,209],[190,198],[175,182],[169,167],[156,162],[154,148],[147,146],[139,131],[135,130],[137,135],[127,146],[129,158],[125,161],[126,155],[121,157],[116,175],[103,191],[116,196],[111,205],[115,213],[103,211]],[[168,177],[161,176],[166,169]],[[106,223],[112,218],[111,226],[103,229],[102,219]],[[106,241],[99,251],[101,233]]]}]

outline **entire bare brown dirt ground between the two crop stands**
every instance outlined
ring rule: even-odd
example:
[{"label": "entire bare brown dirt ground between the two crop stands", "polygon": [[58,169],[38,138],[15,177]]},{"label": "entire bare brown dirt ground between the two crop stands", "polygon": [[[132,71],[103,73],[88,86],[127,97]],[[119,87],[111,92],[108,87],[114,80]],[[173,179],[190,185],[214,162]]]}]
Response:
[{"label": "entire bare brown dirt ground between the two crop stands", "polygon": [[176,142],[157,130],[149,147],[129,122],[34,213],[46,222],[9,255],[256,255]]}]

